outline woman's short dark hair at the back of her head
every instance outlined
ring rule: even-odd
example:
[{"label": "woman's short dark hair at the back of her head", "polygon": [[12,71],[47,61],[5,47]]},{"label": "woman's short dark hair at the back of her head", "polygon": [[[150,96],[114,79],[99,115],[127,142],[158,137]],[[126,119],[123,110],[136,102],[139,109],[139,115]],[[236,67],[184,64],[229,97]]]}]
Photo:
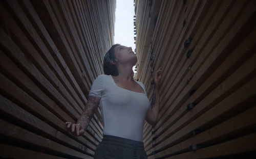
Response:
[{"label": "woman's short dark hair at the back of her head", "polygon": [[104,60],[103,60],[103,70],[107,75],[118,75],[118,69],[115,64],[112,64],[110,61],[118,62],[115,58],[115,47],[120,44],[113,45],[108,52],[106,52]]}]

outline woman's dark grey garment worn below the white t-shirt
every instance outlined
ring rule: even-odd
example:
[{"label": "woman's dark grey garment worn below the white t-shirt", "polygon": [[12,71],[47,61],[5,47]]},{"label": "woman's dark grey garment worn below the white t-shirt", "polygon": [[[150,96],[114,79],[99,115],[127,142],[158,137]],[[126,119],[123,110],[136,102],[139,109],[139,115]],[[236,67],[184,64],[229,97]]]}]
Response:
[{"label": "woman's dark grey garment worn below the white t-shirt", "polygon": [[147,154],[141,141],[103,135],[102,141],[96,147],[94,159],[115,158],[147,159]]}]

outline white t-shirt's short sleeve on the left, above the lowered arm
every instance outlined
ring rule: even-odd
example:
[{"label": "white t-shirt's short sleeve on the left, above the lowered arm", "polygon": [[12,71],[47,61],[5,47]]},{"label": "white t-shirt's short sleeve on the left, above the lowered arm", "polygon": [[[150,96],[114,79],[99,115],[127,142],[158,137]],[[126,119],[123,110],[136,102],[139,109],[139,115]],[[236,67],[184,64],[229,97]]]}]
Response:
[{"label": "white t-shirt's short sleeve on the left, above the lowered arm", "polygon": [[101,98],[103,89],[103,75],[101,74],[94,80],[88,96]]}]

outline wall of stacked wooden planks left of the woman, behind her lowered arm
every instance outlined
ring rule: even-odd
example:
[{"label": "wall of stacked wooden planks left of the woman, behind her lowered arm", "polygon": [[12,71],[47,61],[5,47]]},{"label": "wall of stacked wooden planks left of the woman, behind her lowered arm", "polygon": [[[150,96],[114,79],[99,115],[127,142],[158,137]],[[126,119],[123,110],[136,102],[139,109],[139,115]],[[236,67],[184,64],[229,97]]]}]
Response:
[{"label": "wall of stacked wooden planks left of the woman, behind her lowered arm", "polygon": [[116,1],[0,2],[1,158],[93,158],[98,108],[74,137],[92,82],[113,45]]}]

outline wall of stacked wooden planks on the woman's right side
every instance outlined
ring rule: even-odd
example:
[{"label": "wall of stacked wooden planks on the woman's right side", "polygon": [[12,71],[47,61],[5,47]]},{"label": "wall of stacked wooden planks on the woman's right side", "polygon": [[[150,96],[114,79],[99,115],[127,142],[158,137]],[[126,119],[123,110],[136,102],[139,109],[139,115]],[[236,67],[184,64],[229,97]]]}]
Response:
[{"label": "wall of stacked wooden planks on the woman's right side", "polygon": [[148,158],[255,156],[256,1],[136,0],[135,10],[136,78],[150,99],[163,67]]}]

